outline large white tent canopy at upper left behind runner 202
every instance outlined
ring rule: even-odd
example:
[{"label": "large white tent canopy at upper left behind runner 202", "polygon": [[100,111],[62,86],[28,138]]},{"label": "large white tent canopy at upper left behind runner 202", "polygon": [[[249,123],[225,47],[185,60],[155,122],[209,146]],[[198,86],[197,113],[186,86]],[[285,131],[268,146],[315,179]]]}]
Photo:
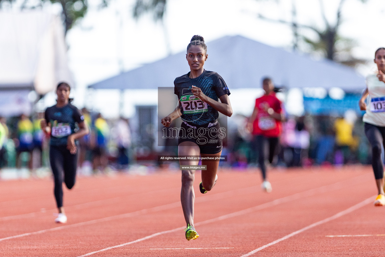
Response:
[{"label": "large white tent canopy at upper left behind runner 202", "polygon": [[41,11],[0,12],[0,90],[45,94],[72,83],[59,17]]}]

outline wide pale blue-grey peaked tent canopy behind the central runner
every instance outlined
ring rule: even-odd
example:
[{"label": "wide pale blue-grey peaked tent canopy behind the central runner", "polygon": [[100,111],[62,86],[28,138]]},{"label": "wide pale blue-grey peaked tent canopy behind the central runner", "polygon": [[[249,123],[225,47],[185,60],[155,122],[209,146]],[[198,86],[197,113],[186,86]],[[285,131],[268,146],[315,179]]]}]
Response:
[{"label": "wide pale blue-grey peaked tent canopy behind the central runner", "polygon": [[[362,91],[365,79],[354,69],[330,60],[313,60],[242,36],[226,36],[207,43],[205,69],[216,71],[231,88],[260,87],[263,77],[276,85],[293,87],[340,87]],[[189,67],[186,52],[171,55],[132,71],[97,82],[94,89],[156,89],[173,87],[176,77]]]}]

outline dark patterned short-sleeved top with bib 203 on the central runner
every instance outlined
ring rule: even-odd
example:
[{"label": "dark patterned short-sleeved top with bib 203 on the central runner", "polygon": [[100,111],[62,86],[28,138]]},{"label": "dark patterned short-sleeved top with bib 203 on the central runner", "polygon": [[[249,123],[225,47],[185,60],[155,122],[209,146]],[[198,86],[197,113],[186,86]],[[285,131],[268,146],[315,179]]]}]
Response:
[{"label": "dark patterned short-sleeved top with bib 203 on the central runner", "polygon": [[174,81],[174,94],[180,101],[180,109],[184,121],[196,125],[203,125],[218,118],[218,111],[206,102],[201,101],[191,92],[192,86],[199,87],[205,96],[218,101],[218,98],[224,94],[230,95],[226,83],[213,71],[204,70],[203,73],[195,79],[190,79],[190,72],[177,77]]}]

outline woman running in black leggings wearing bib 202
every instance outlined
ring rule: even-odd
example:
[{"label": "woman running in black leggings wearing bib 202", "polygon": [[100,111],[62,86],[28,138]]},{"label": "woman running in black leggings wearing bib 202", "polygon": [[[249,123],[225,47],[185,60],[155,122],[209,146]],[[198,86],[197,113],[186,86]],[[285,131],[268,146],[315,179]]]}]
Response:
[{"label": "woman running in black leggings wearing bib 202", "polygon": [[77,166],[75,140],[88,134],[89,130],[80,111],[70,103],[72,99],[69,99],[69,84],[59,83],[56,94],[57,103],[45,110],[45,119],[40,125],[42,130],[50,135],[49,159],[54,174],[54,194],[59,210],[55,222],[66,223],[67,216],[63,208],[63,175],[65,185],[71,189],[75,184]]}]

